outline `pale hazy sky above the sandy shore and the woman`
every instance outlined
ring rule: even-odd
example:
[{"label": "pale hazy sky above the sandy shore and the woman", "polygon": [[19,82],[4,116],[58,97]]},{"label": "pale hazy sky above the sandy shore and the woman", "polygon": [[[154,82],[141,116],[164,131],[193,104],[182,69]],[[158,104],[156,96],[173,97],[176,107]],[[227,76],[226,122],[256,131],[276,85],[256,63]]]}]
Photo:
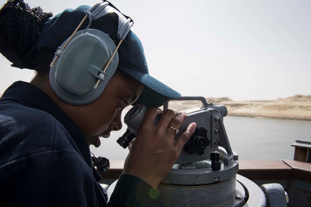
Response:
[{"label": "pale hazy sky above the sandy shore and the woman", "polygon": [[[25,2],[56,15],[98,0]],[[311,95],[309,0],[110,2],[134,20],[149,73],[182,96],[245,101]],[[34,76],[10,65],[0,55],[0,94]]]}]

